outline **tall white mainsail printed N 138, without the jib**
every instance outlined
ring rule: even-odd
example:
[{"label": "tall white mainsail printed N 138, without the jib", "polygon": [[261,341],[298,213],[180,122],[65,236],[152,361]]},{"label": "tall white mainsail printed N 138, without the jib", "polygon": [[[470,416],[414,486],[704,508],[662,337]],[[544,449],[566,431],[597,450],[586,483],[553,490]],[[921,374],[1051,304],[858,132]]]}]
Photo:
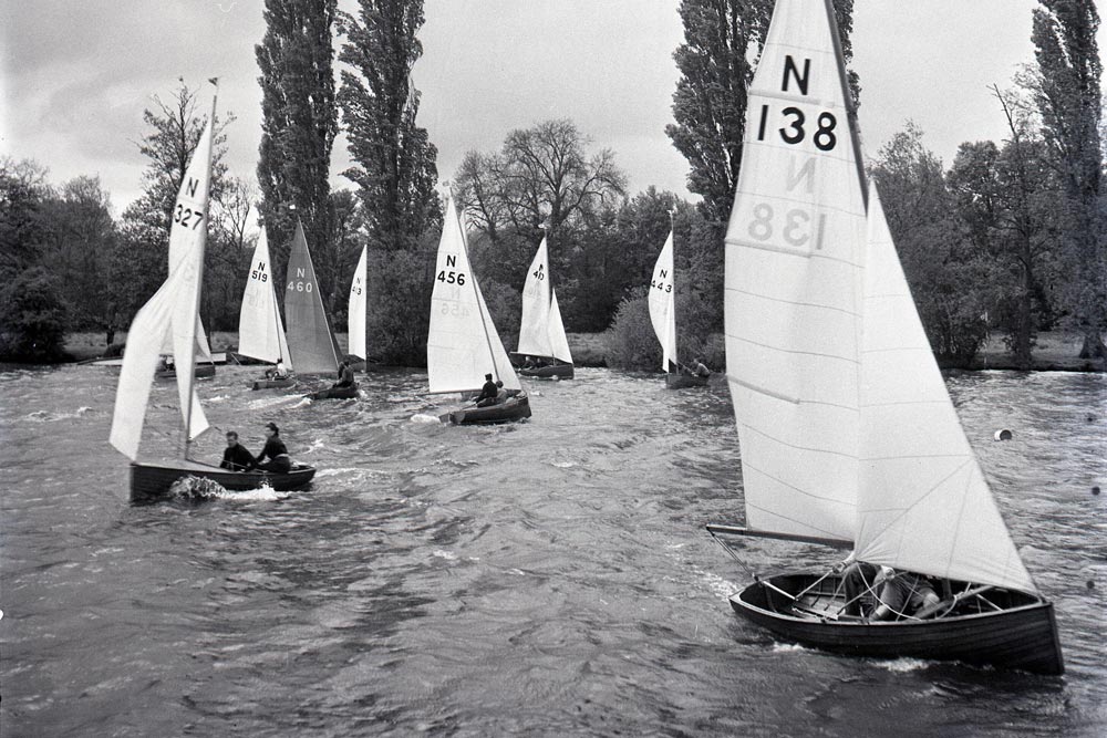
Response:
[{"label": "tall white mainsail printed N 138, without the jib", "polygon": [[865,200],[826,4],[778,0],[726,231],[726,361],[752,528],[852,540]]}]

